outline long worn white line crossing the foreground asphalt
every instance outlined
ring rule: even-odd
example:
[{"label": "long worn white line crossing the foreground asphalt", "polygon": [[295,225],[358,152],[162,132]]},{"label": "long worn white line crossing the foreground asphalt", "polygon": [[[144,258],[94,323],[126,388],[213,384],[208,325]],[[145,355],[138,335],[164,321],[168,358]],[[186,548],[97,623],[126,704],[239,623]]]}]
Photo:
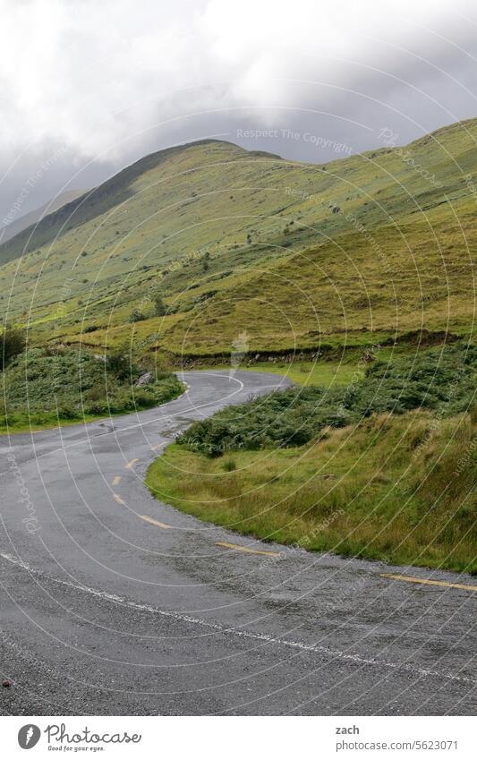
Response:
[{"label": "long worn white line crossing the foreground asphalt", "polygon": [[376,660],[374,658],[362,657],[360,654],[347,654],[345,652],[342,652],[339,649],[328,649],[327,646],[305,644],[304,642],[301,642],[301,641],[293,641],[287,638],[278,638],[275,636],[269,636],[268,634],[256,633],[255,631],[243,630],[241,628],[226,628],[226,626],[222,625],[221,623],[215,623],[209,620],[194,618],[192,617],[192,615],[184,615],[182,612],[174,612],[170,610],[158,610],[156,607],[151,607],[149,604],[139,604],[137,602],[129,602],[127,599],[124,598],[124,596],[117,596],[115,593],[107,593],[106,591],[100,591],[97,588],[90,588],[87,585],[73,584],[71,583],[71,581],[64,581],[64,580],[60,580],[59,578],[47,576],[46,573],[43,573],[41,570],[31,568],[30,565],[28,565],[26,562],[23,562],[22,559],[13,557],[11,554],[4,554],[0,552],[0,557],[2,557],[3,559],[6,559],[8,562],[11,562],[13,565],[17,565],[18,567],[24,570],[27,570],[29,573],[32,573],[37,576],[45,577],[47,578],[47,580],[52,581],[53,583],[64,585],[64,586],[67,586],[68,588],[74,588],[77,591],[90,593],[92,596],[98,597],[98,599],[104,599],[108,602],[115,602],[115,604],[119,604],[122,607],[127,607],[132,610],[151,612],[154,615],[160,615],[163,618],[171,618],[174,620],[180,620],[181,622],[184,622],[184,623],[192,623],[194,625],[198,625],[203,628],[209,628],[210,630],[214,630],[222,634],[230,634],[232,636],[241,636],[242,638],[249,638],[254,641],[262,641],[262,642],[266,642],[267,644],[289,646],[294,649],[299,649],[302,652],[326,654],[338,660],[345,660],[347,662],[355,662],[357,665],[374,665],[378,667],[390,668],[392,670],[405,670],[406,672],[413,673],[413,675],[419,675],[420,677],[423,677],[423,678],[439,678],[439,679],[446,679],[449,681],[459,681],[463,683],[470,683],[470,684],[473,684],[473,686],[477,685],[477,681],[475,681],[474,679],[470,679],[466,676],[455,676],[453,673],[439,672],[439,670],[428,670],[426,668],[416,668],[416,667],[413,667],[413,665],[409,665],[407,663],[388,662],[386,660]]}]

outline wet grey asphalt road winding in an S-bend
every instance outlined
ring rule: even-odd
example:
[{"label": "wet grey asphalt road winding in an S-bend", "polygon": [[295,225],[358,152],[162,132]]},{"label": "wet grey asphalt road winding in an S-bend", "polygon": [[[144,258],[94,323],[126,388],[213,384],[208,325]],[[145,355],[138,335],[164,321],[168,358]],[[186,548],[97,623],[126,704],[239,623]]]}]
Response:
[{"label": "wet grey asphalt road winding in an S-bend", "polygon": [[452,584],[475,578],[255,542],[149,495],[178,430],[285,385],[184,380],[158,409],[0,440],[0,713],[474,714],[476,595]]}]

